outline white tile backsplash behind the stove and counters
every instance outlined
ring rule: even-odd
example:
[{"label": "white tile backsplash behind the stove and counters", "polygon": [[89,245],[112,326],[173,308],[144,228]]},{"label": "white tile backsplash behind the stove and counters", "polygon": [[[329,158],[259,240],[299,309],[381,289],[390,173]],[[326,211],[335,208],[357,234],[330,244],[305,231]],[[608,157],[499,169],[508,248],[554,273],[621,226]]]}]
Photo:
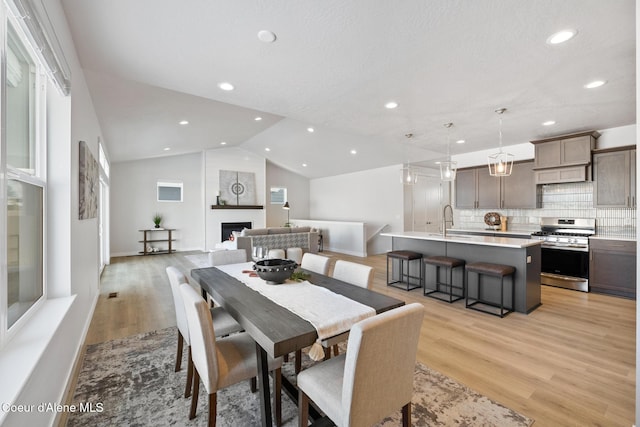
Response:
[{"label": "white tile backsplash behind the stove and counters", "polygon": [[456,228],[486,228],[484,215],[496,211],[508,218],[509,230],[535,231],[540,218],[595,218],[598,235],[635,237],[635,208],[594,208],[593,182],[540,186],[539,209],[455,209]]}]

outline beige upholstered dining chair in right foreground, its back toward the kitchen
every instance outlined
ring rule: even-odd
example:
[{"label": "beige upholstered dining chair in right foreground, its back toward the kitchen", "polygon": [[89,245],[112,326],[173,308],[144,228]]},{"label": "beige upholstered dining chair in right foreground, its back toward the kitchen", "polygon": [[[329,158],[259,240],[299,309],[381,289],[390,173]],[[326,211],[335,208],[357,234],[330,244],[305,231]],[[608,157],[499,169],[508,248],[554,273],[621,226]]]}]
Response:
[{"label": "beige upholstered dining chair in right foreground, its back toward the kitchen", "polygon": [[298,374],[299,426],[309,400],[338,427],[368,427],[402,408],[411,425],[411,397],[424,307],[413,303],[351,328],[347,352]]}]

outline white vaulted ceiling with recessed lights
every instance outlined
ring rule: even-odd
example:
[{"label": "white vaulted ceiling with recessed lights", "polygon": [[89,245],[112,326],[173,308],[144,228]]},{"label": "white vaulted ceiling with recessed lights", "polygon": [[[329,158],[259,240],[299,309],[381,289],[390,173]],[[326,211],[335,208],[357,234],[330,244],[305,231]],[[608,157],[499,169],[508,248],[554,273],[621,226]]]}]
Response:
[{"label": "white vaulted ceiling with recessed lights", "polygon": [[635,123],[633,0],[62,3],[112,162],[236,146],[316,178],[497,148],[501,107],[505,145]]}]

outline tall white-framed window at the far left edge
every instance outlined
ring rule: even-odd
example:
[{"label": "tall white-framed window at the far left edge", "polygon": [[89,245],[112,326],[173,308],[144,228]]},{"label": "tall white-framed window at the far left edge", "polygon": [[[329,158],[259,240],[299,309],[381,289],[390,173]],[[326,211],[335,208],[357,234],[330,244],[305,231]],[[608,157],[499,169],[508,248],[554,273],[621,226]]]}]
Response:
[{"label": "tall white-framed window at the far left edge", "polygon": [[[0,278],[4,325],[0,336],[20,322],[31,308],[46,297],[44,279],[45,181],[45,84],[40,63],[13,18],[7,21],[7,73],[3,82],[6,108],[2,122],[6,133],[7,202],[6,275]],[[4,314],[6,313],[6,316]]]}]

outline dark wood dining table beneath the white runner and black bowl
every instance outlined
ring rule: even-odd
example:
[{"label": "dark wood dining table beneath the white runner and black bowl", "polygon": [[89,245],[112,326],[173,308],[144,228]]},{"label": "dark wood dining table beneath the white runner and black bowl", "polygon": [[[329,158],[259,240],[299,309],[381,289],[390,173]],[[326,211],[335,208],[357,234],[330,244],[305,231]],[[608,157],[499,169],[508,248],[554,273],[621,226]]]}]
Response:
[{"label": "dark wood dining table beneath the white runner and black bowl", "polygon": [[[310,275],[308,281],[314,285],[367,305],[376,314],[404,305],[402,300],[369,289],[311,271],[304,272]],[[193,269],[191,277],[255,340],[262,425],[271,426],[267,355],[280,357],[312,345],[318,338],[315,327],[216,267]],[[287,383],[283,378],[283,386],[292,387]]]}]

